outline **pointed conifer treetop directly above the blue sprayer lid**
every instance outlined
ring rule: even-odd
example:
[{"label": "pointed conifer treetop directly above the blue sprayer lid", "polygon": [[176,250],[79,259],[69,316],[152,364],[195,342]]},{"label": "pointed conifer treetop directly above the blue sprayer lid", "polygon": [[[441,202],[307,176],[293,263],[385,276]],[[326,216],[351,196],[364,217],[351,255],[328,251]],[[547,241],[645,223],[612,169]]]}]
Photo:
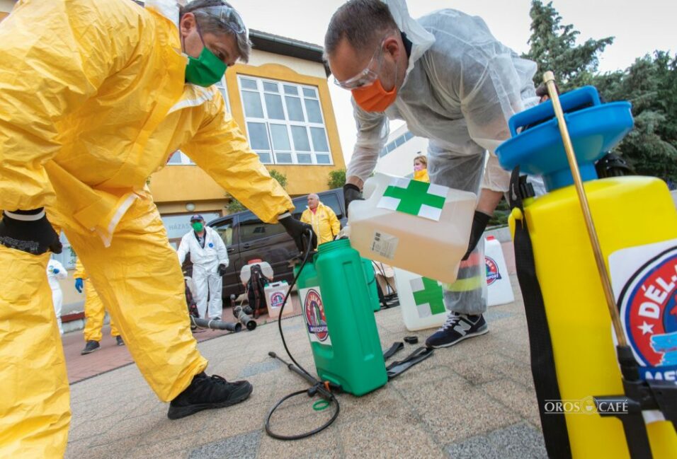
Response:
[{"label": "pointed conifer treetop directly above the blue sprayer lid", "polygon": [[543,72],[552,70],[562,91],[588,84],[597,71],[598,54],[613,43],[613,37],[588,39],[576,44],[580,32],[574,25],[562,24],[562,16],[552,6],[540,0],[531,2],[530,50],[523,57],[538,64],[534,76],[536,86],[543,82]]}]

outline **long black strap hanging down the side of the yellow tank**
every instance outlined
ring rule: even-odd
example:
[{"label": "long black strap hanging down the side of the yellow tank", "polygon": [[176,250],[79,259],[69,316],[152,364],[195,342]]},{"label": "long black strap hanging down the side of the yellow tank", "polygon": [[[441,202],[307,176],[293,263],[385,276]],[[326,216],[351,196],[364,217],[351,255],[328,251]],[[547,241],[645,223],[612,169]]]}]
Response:
[{"label": "long black strap hanging down the side of the yellow tank", "polygon": [[559,383],[557,383],[545,303],[536,276],[533,246],[522,204],[523,197],[533,196],[533,187],[526,182],[525,175],[520,178],[519,166],[513,170],[508,194],[511,209],[517,208],[521,214],[520,219],[515,219],[515,260],[517,277],[524,298],[531,351],[531,372],[536,389],[545,448],[551,459],[567,459],[571,458],[571,445],[564,414],[545,412],[547,400],[561,400],[562,397],[559,394]]}]

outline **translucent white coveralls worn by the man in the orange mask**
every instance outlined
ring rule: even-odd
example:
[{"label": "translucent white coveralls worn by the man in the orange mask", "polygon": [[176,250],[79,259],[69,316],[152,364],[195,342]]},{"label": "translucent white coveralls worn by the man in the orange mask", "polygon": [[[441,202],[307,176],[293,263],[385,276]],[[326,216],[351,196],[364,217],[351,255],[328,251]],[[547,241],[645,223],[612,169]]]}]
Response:
[{"label": "translucent white coveralls worn by the man in the orange mask", "polygon": [[[411,41],[409,66],[385,112],[365,112],[353,99],[358,135],[346,175],[366,180],[387,140],[388,120],[404,120],[412,134],[430,139],[432,183],[474,193],[480,185],[506,192],[510,173],[501,168],[494,149],[510,136],[508,119],[538,103],[532,81],[536,64],[496,40],[482,18],[445,9],[414,20],[404,0],[384,1]],[[487,310],[483,260],[480,240],[461,263],[459,281],[445,288],[449,310]]]}]

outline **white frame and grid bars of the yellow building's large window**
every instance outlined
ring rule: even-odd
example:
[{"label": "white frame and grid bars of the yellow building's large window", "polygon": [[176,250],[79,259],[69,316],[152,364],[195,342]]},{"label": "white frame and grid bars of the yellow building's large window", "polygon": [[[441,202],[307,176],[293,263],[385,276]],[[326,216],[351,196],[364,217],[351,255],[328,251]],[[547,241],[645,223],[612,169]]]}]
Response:
[{"label": "white frame and grid bars of the yellow building's large window", "polygon": [[[250,80],[250,81],[256,81],[256,91],[253,89],[249,88],[244,88],[242,85],[242,80]],[[273,93],[271,91],[267,91],[263,87],[263,83],[272,83],[275,84],[278,87],[278,92]],[[327,132],[326,128],[326,118],[324,117],[324,111],[322,110],[322,100],[320,99],[319,95],[319,88],[317,86],[311,86],[311,85],[305,85],[305,84],[300,84],[300,83],[292,83],[290,81],[281,81],[281,80],[273,80],[273,79],[266,79],[266,78],[260,78],[257,76],[249,76],[249,75],[238,75],[238,84],[239,84],[239,91],[240,91],[240,96],[241,100],[243,101],[243,107],[242,107],[242,112],[244,113],[244,120],[245,120],[245,131],[247,134],[247,139],[250,140],[249,136],[249,122],[255,122],[259,124],[264,124],[266,127],[266,134],[268,135],[268,150],[257,150],[257,153],[268,153],[271,156],[271,161],[261,161],[264,164],[276,164],[276,165],[334,165],[334,156],[331,153],[331,144],[329,143],[329,133]],[[285,88],[284,86],[294,86],[297,88],[297,98],[300,100],[301,103],[301,110],[303,112],[303,118],[306,121],[292,121],[290,120],[289,113],[287,110],[287,104],[285,102]],[[312,97],[309,97],[303,93],[304,89],[311,89],[314,91],[315,95],[317,98],[314,100],[317,100],[317,103],[319,105],[319,112],[320,116],[322,117],[322,122],[310,122],[308,121],[308,114],[306,110],[306,105],[305,105],[305,99],[313,99]],[[261,102],[261,108],[263,110],[263,117],[249,117],[246,115],[246,111],[244,108],[244,92],[249,92],[249,93],[257,93],[258,98]],[[265,95],[266,93],[268,94],[277,94],[280,96],[282,100],[282,109],[284,112],[285,119],[284,120],[277,120],[273,119],[271,117],[268,117],[268,107],[266,105],[266,98]],[[292,95],[292,97],[294,97]],[[283,150],[283,151],[275,151],[273,147],[273,135],[271,134],[271,124],[278,124],[278,125],[283,125],[287,128],[287,136],[290,144],[290,150]],[[297,127],[304,127],[306,129],[306,135],[308,139],[308,144],[310,146],[310,151],[297,151],[295,149],[295,144],[294,144],[294,137],[292,135],[292,127],[297,126]],[[328,151],[315,151],[315,146],[313,144],[312,140],[312,133],[310,131],[310,128],[312,127],[317,127],[317,128],[322,128],[324,130],[324,139],[326,141],[326,146]],[[251,141],[250,141],[251,144]],[[279,154],[290,154],[291,155],[291,162],[278,162],[276,153]],[[298,161],[298,155],[309,155],[310,156],[310,163],[300,163]],[[317,155],[320,156],[329,156],[329,162],[328,163],[318,163],[317,162]]]}]

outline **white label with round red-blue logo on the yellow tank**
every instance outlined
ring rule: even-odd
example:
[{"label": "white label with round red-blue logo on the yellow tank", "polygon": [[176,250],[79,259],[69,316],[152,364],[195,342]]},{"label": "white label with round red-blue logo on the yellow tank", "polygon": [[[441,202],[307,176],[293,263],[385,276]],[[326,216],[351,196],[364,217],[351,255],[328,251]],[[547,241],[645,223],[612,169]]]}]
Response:
[{"label": "white label with round red-blue logo on the yellow tank", "polygon": [[677,240],[609,257],[627,342],[645,380],[677,380]]}]

